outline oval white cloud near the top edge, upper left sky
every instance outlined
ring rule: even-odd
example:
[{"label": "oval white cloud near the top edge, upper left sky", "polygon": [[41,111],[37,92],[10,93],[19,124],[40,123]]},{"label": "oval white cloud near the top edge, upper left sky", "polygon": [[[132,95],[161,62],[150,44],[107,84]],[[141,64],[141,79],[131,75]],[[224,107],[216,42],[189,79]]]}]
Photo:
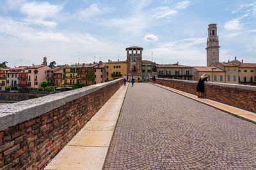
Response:
[{"label": "oval white cloud near the top edge, upper left sky", "polygon": [[49,18],[56,16],[62,10],[62,6],[53,5],[48,2],[38,3],[24,3],[22,4],[20,11],[31,18]]}]

